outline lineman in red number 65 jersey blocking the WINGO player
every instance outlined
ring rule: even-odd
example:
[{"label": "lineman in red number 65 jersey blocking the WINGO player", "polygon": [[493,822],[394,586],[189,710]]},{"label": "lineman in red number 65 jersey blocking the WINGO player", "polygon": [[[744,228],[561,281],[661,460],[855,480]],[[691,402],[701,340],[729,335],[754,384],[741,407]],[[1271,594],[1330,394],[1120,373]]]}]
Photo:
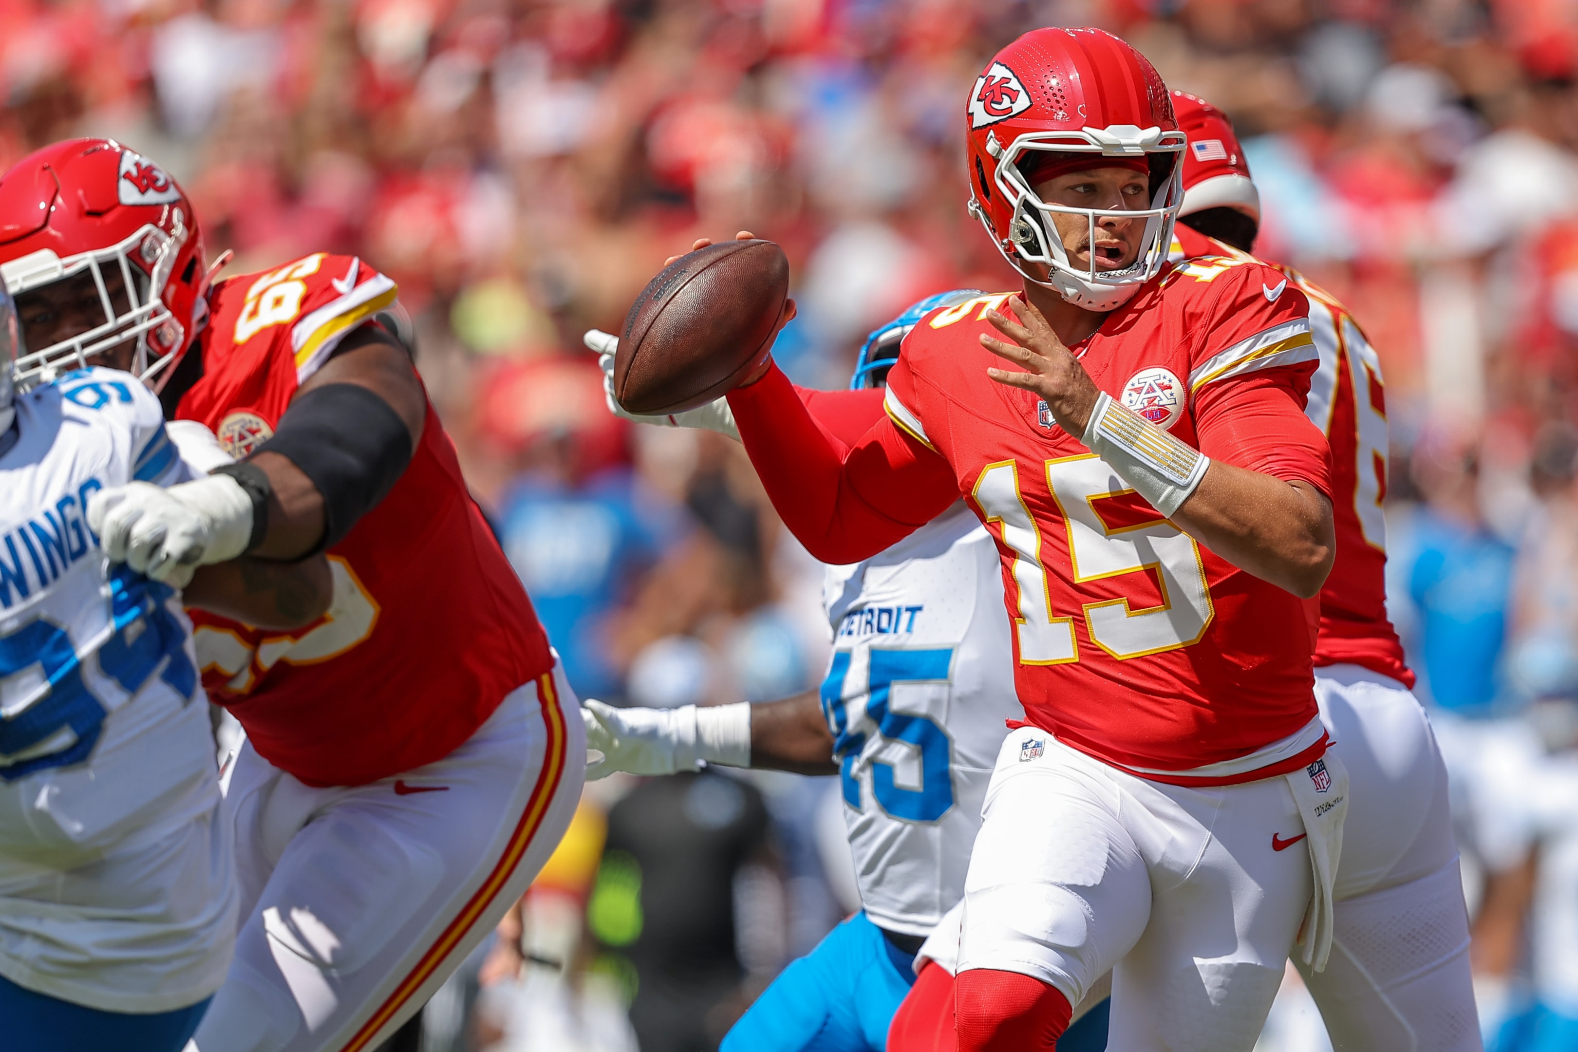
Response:
[{"label": "lineman in red number 65 jersey blocking the WINGO player", "polygon": [[35,367],[125,361],[237,457],[90,511],[112,558],[191,579],[205,685],[248,733],[237,957],[194,1044],[376,1047],[525,890],[584,770],[574,696],[376,320],[394,282],[317,252],[210,289],[180,188],[109,140],[0,177],[0,237]]}]

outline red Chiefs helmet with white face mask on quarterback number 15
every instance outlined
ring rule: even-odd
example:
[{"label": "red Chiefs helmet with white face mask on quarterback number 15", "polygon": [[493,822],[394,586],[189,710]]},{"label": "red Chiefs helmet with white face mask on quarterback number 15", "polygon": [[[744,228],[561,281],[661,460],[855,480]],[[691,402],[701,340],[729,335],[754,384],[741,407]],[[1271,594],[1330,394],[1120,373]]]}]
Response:
[{"label": "red Chiefs helmet with white face mask on quarterback number 15", "polygon": [[[1026,279],[1075,306],[1111,311],[1161,270],[1184,203],[1185,136],[1166,85],[1144,55],[1101,30],[1032,30],[986,65],[970,90],[966,117],[970,215]],[[1048,205],[1019,172],[1030,151],[1142,161],[1150,172],[1150,208]],[[1084,216],[1092,240],[1100,219],[1144,219],[1139,259],[1125,270],[1103,271],[1092,252],[1089,267],[1071,265],[1053,227],[1057,213]],[[1045,279],[1027,273],[1024,263],[1046,267]]]}]

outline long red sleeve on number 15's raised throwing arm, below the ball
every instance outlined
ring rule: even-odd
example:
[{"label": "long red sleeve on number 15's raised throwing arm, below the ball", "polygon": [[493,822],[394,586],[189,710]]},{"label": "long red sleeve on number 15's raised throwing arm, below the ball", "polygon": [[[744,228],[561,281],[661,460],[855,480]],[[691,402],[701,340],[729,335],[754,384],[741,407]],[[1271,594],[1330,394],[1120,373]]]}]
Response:
[{"label": "long red sleeve on number 15's raised throwing arm, below the ball", "polygon": [[835,438],[773,366],[729,393],[734,423],[773,508],[824,563],[855,563],[958,500],[953,472],[884,415],[854,445]]}]

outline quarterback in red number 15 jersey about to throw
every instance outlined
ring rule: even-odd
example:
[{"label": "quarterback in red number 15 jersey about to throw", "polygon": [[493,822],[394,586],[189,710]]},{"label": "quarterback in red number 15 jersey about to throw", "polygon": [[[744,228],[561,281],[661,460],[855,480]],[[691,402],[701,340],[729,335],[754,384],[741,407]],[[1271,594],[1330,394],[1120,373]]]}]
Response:
[{"label": "quarterback in red number 15 jersey about to throw", "polygon": [[1166,267],[1184,136],[1116,38],[1026,35],[969,114],[1019,320],[1000,293],[922,322],[854,448],[776,369],[731,407],[824,560],[961,494],[999,538],[1029,722],[970,863],[959,1049],[1051,1047],[1114,965],[1111,1047],[1248,1049],[1296,938],[1326,964],[1346,812],[1297,598],[1332,560],[1308,304],[1259,263]]}]

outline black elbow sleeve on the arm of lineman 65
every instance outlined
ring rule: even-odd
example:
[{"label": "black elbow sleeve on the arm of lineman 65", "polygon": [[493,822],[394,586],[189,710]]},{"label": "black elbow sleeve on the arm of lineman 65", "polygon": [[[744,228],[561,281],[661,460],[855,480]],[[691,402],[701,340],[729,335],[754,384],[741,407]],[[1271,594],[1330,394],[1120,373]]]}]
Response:
[{"label": "black elbow sleeve on the arm of lineman 65", "polygon": [[410,464],[410,431],[388,402],[357,383],[325,383],[300,394],[257,453],[278,453],[301,468],[323,497],[323,539],[344,539]]}]

